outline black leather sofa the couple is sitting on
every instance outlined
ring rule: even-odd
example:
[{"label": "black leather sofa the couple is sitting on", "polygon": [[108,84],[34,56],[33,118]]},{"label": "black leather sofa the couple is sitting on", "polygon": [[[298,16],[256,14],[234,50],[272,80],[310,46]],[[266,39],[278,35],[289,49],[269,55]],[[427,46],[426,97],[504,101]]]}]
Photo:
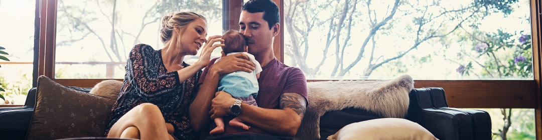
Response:
[{"label": "black leather sofa the couple is sitting on", "polygon": [[[88,90],[88,89],[87,89]],[[442,88],[412,89],[408,116],[438,139],[491,139],[491,118],[485,111],[449,108]],[[36,101],[36,88],[22,107],[0,108],[0,139],[24,139]],[[337,119],[340,118],[340,119]],[[363,109],[326,112],[320,118],[320,136],[326,139],[343,126],[379,118]]]}]

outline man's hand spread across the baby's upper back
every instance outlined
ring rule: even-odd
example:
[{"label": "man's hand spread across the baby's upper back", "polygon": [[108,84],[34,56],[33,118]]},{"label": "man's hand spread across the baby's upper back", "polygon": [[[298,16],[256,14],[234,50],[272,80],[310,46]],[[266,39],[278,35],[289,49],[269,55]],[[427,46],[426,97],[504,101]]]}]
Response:
[{"label": "man's hand spread across the baby's upper back", "polygon": [[220,61],[211,65],[209,72],[216,72],[219,75],[225,75],[235,71],[252,72],[255,69],[255,65],[248,60],[248,56],[243,53],[225,56],[220,58]]}]

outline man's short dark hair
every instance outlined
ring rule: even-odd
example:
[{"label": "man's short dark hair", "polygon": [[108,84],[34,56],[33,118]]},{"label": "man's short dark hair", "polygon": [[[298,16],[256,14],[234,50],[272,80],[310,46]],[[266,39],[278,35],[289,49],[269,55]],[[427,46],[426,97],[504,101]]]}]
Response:
[{"label": "man's short dark hair", "polygon": [[269,30],[275,23],[280,23],[279,6],[271,0],[250,0],[244,3],[243,10],[250,13],[263,12],[263,20],[267,21]]}]

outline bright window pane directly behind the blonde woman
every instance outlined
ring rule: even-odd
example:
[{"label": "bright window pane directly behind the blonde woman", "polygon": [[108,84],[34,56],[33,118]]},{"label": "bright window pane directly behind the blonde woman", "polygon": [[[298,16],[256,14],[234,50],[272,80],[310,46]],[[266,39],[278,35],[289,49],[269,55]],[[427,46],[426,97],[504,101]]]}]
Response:
[{"label": "bright window pane directly behind the blonde woman", "polygon": [[[55,78],[124,78],[128,52],[135,44],[154,49],[162,17],[192,11],[207,18],[208,34],[222,34],[222,2],[206,1],[68,1],[59,0],[56,12]],[[220,49],[215,51],[220,55]],[[188,56],[186,63],[199,55]]]}]

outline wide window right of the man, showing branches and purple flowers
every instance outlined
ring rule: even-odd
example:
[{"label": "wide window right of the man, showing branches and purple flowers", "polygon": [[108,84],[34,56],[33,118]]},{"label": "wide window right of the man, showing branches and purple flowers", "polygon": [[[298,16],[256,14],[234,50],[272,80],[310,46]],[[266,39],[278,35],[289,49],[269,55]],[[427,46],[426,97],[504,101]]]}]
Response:
[{"label": "wide window right of the man, showing branches and purple flowers", "polygon": [[285,0],[284,62],[309,79],[533,79],[529,3]]}]

